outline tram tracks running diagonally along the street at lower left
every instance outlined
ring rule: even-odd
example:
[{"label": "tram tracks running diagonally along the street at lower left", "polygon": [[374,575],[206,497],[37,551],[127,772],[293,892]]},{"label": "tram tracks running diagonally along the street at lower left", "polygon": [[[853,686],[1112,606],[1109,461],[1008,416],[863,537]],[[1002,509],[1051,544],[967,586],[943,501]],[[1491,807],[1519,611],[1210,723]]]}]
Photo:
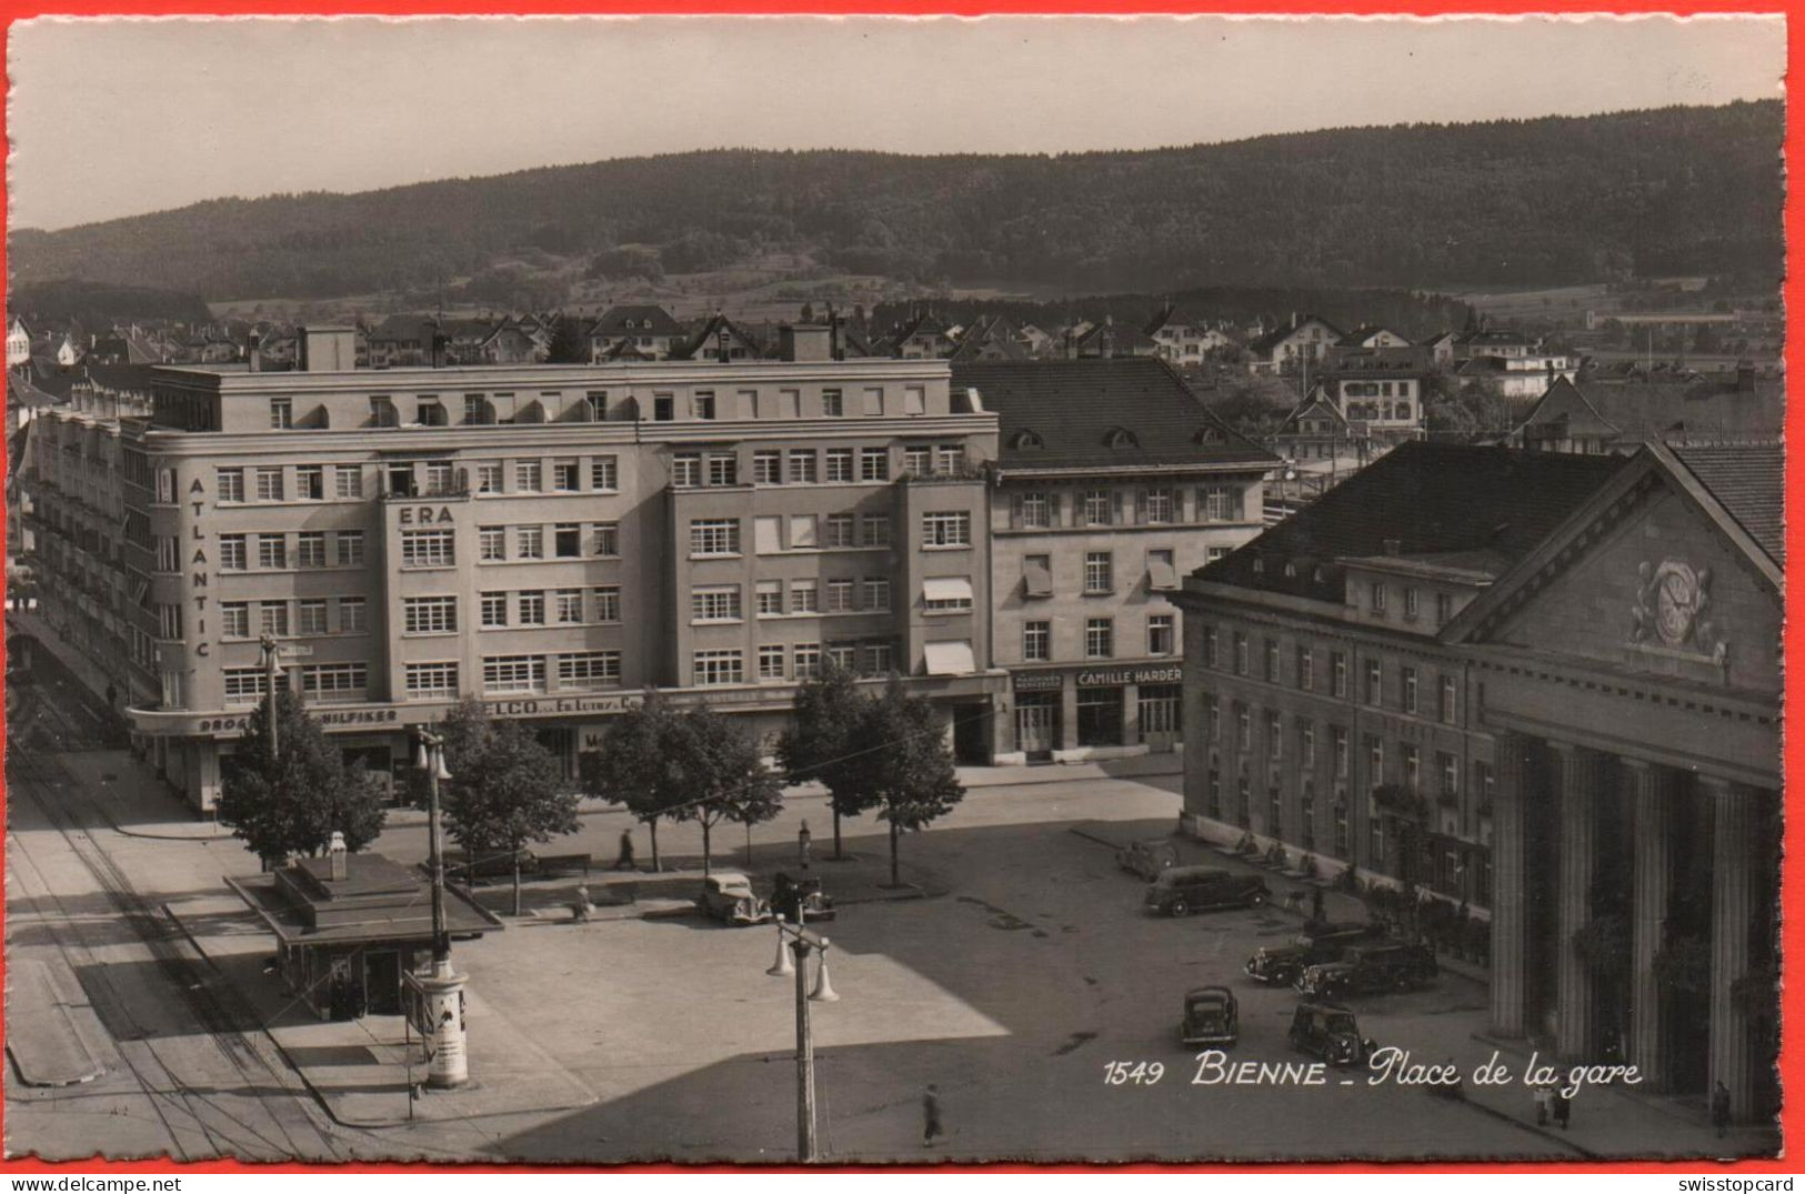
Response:
[{"label": "tram tracks running diagonally along the street at lower left", "polygon": [[[76,918],[56,895],[42,860],[9,831],[11,866],[31,871],[54,916],[45,923],[63,960],[96,976],[90,997],[105,1006],[103,1023],[114,1032],[117,1055],[143,1091],[177,1160],[217,1156],[240,1160],[343,1160],[348,1153],[316,1118],[312,1098],[282,1061],[242,996],[218,985],[211,965],[170,918],[132,884],[92,826],[103,821],[54,759],[14,747],[7,758],[9,792],[31,803],[69,853],[94,880],[106,904],[150,956],[161,979],[153,1010],[175,1010],[182,1028],[168,1032],[141,1015],[150,990],[121,990],[110,967],[81,940]],[[85,810],[88,815],[78,815]],[[96,1010],[101,1010],[97,1006]],[[123,1032],[121,1032],[123,1030]],[[197,1080],[218,1075],[224,1080]]]}]

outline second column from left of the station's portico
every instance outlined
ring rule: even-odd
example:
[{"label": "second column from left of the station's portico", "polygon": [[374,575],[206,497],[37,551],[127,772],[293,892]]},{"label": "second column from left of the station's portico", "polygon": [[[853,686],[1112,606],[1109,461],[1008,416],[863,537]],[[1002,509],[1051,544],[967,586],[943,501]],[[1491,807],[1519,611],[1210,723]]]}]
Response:
[{"label": "second column from left of the station's portico", "polygon": [[1560,768],[1560,907],[1556,911],[1560,976],[1556,988],[1556,1052],[1588,1061],[1597,1050],[1597,1001],[1592,969],[1576,936],[1592,920],[1592,877],[1597,859],[1597,804],[1605,794],[1608,756],[1550,741]]}]

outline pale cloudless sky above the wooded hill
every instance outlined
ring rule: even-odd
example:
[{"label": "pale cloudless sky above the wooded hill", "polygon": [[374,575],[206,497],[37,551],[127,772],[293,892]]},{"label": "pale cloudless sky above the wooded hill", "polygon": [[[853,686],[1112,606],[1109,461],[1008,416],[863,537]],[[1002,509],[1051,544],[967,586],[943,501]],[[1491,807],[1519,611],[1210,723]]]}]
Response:
[{"label": "pale cloudless sky above the wooded hill", "polygon": [[720,146],[1058,153],[1776,97],[1780,18],[13,25],[11,227]]}]

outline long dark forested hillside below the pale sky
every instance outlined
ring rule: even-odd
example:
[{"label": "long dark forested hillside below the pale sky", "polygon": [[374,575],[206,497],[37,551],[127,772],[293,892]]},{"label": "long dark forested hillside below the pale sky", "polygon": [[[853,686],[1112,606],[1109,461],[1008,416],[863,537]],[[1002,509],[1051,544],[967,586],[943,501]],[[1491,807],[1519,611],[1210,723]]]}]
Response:
[{"label": "long dark forested hillside below the pale sky", "polygon": [[522,254],[693,272],[771,249],[1092,294],[1778,280],[1782,123],[1771,101],[1060,157],[717,150],[22,231],[11,271],[208,299],[435,287]]}]

